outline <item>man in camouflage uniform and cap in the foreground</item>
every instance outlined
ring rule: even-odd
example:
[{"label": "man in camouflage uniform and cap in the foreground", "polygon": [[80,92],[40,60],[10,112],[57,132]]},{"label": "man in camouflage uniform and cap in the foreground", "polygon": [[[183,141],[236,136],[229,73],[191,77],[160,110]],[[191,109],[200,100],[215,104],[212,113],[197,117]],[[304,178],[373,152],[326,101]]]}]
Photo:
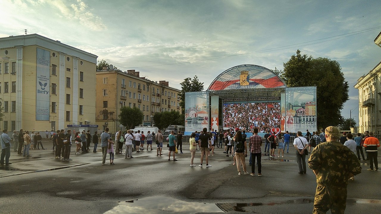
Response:
[{"label": "man in camouflage uniform and cap in the foreground", "polygon": [[316,175],[316,193],[313,214],[343,214],[347,201],[348,179],[361,173],[356,155],[338,140],[338,128],[325,129],[327,142],[316,146],[308,160],[309,168]]}]

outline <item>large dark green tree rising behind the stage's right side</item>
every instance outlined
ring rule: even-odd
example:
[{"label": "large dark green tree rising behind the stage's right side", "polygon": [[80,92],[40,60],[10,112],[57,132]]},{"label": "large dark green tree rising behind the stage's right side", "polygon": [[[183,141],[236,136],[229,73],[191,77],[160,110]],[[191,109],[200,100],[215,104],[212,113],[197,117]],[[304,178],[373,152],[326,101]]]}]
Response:
[{"label": "large dark green tree rising behind the stage's right side", "polygon": [[296,55],[283,64],[281,77],[288,87],[316,86],[318,128],[341,123],[340,110],[349,98],[349,86],[337,61],[302,56],[297,50]]}]

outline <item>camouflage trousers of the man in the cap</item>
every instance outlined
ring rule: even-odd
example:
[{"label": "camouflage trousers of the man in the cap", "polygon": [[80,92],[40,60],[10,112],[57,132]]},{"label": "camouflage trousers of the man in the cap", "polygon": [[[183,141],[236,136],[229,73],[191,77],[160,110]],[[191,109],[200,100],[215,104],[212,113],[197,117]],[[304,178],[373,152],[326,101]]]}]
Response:
[{"label": "camouflage trousers of the man in the cap", "polygon": [[347,188],[317,185],[313,214],[344,214],[347,203]]}]

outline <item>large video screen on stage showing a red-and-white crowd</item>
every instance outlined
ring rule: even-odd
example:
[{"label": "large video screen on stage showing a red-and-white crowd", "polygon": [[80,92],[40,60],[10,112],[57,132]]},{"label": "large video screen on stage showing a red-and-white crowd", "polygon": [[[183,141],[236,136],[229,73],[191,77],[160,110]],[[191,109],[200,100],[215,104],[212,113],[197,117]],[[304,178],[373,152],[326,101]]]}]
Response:
[{"label": "large video screen on stage showing a red-and-white crowd", "polygon": [[247,131],[265,133],[271,128],[280,127],[280,103],[235,103],[224,104],[223,118],[225,128],[239,128]]}]

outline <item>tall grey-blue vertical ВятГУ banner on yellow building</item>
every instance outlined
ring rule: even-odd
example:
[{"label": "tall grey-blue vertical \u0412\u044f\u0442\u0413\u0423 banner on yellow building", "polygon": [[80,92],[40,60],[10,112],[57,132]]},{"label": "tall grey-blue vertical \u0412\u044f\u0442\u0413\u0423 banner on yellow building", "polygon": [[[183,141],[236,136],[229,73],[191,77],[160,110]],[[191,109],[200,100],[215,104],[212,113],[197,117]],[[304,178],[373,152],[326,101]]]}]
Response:
[{"label": "tall grey-blue vertical \u0412\u044f\u0442\u0413\u0423 banner on yellow building", "polygon": [[36,120],[49,121],[50,51],[37,48]]}]

